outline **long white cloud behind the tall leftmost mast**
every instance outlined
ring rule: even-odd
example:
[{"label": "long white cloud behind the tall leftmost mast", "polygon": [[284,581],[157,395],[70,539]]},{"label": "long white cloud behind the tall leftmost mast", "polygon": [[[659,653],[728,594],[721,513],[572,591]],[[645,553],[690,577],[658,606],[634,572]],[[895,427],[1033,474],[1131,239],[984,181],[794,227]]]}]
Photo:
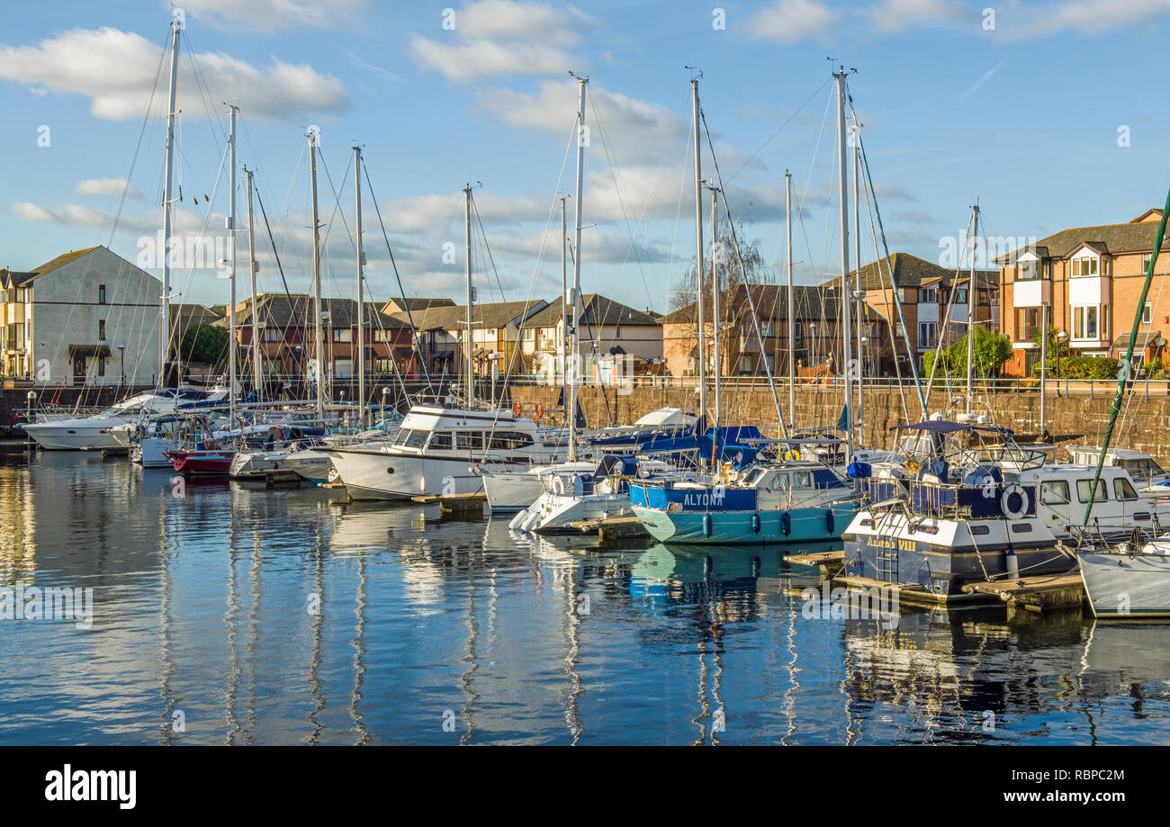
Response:
[{"label": "long white cloud behind the tall leftmost mast", "polygon": [[[249,117],[277,119],[349,106],[344,84],[308,64],[270,57],[259,68],[221,51],[197,54],[195,61],[212,99],[236,99]],[[0,46],[0,78],[34,92],[83,95],[91,101],[92,115],[109,120],[142,116],[158,67],[158,44],[108,27],[71,29],[36,46]],[[179,84],[179,106],[202,111],[199,88],[187,80]],[[165,97],[164,71],[154,96],[158,113],[165,111]]]}]

